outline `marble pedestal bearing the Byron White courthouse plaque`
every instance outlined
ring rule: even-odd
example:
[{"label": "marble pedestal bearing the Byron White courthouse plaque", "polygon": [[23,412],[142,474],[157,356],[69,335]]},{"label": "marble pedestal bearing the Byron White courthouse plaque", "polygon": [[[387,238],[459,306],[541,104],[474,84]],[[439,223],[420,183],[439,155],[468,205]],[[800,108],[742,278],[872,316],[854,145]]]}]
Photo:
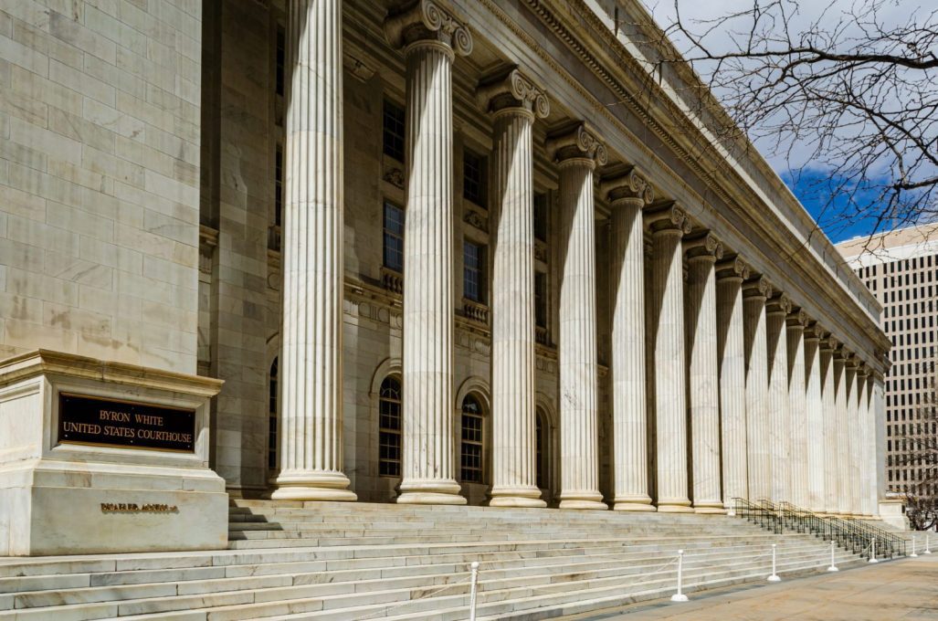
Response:
[{"label": "marble pedestal bearing the Byron White courthouse plaque", "polygon": [[0,556],[218,550],[219,380],[39,350],[0,363]]}]

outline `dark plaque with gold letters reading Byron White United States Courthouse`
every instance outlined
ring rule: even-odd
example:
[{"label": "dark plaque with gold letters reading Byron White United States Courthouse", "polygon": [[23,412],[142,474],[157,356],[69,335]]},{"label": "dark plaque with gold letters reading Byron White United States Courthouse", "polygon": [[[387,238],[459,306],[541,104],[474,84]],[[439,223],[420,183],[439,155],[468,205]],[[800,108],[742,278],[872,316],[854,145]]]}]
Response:
[{"label": "dark plaque with gold letters reading Byron White United States Courthouse", "polygon": [[195,410],[59,395],[60,443],[195,452]]}]

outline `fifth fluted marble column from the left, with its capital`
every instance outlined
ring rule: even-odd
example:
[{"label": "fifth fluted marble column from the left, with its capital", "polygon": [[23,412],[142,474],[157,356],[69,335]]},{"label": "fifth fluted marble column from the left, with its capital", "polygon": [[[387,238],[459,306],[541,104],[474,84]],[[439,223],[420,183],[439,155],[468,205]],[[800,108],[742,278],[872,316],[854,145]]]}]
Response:
[{"label": "fifth fluted marble column from the left, with its capital", "polygon": [[602,184],[613,210],[613,508],[654,511],[648,495],[642,209],[654,192],[634,169]]}]

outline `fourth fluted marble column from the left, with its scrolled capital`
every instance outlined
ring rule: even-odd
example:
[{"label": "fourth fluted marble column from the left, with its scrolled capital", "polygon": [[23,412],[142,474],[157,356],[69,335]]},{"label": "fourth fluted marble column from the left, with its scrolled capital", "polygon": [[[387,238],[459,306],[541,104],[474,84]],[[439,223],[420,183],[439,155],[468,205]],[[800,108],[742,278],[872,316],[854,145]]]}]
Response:
[{"label": "fourth fluted marble column from the left, with its scrolled capital", "polygon": [[604,509],[598,465],[593,172],[606,163],[606,147],[592,129],[579,124],[552,136],[548,150],[560,162],[560,507]]}]

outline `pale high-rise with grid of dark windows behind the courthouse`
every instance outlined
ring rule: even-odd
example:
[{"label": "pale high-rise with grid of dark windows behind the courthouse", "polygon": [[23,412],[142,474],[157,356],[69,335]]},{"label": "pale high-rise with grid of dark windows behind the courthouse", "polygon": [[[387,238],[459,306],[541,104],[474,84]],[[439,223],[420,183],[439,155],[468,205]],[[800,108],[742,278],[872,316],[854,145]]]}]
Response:
[{"label": "pale high-rise with grid of dark windows behind the courthouse", "polygon": [[938,436],[938,225],[858,237],[838,250],[883,306],[882,326],[892,341],[885,375],[886,491],[934,495],[938,473],[923,457]]}]

